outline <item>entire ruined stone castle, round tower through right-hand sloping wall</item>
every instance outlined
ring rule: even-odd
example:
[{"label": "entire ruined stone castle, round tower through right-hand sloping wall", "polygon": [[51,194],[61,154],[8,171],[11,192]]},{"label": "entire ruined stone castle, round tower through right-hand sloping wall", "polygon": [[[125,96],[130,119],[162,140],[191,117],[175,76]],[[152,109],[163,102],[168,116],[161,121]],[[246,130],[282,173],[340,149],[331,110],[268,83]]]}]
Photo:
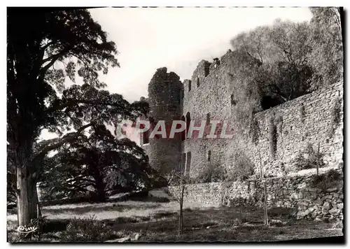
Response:
[{"label": "entire ruined stone castle, round tower through right-hand sloping wall", "polygon": [[[211,162],[223,165],[227,169],[234,166],[233,155],[244,152],[255,164],[255,173],[260,173],[260,156],[265,166],[265,176],[281,176],[293,170],[293,159],[300,150],[311,143],[317,150],[324,153],[324,161],[328,166],[337,167],[342,164],[343,153],[343,111],[340,112],[341,121],[335,129],[334,136],[328,137],[331,124],[331,112],[335,99],[341,99],[343,105],[343,83],[330,85],[325,89],[306,94],[292,101],[270,108],[255,114],[260,136],[258,143],[253,143],[248,131],[235,131],[234,108],[231,104],[233,92],[229,73],[235,70],[239,60],[237,52],[229,50],[219,61],[209,63],[202,60],[191,80],[179,81],[175,73],[167,73],[165,68],[158,69],[148,87],[149,101],[152,115],[155,120],[179,119],[190,113],[191,120],[196,126],[200,121],[226,120],[227,133],[233,138],[192,138],[181,142],[181,139],[150,139],[150,144],[144,148],[148,153],[151,165],[156,169],[179,169],[179,164],[186,165],[190,176],[196,176],[206,164],[209,164],[207,155],[211,151]],[[218,63],[220,62],[220,63]],[[191,85],[189,90],[189,85]],[[303,107],[302,107],[303,106]],[[300,110],[304,108],[304,111]],[[304,113],[303,115],[301,113]],[[270,117],[278,117],[276,152],[271,153],[268,124]],[[207,127],[210,129],[210,127]],[[142,144],[142,143],[141,143]],[[181,161],[181,153],[190,152],[188,162]],[[186,159],[186,158],[185,158]],[[190,161],[190,162],[189,162]],[[283,166],[282,166],[283,164]]]}]

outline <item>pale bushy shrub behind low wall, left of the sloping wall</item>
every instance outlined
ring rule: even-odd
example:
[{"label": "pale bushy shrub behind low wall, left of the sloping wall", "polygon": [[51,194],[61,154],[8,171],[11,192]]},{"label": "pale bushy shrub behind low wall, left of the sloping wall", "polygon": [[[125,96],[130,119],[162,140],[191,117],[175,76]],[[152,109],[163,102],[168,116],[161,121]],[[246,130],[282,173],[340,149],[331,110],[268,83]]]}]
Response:
[{"label": "pale bushy shrub behind low wall, left of the sloping wall", "polygon": [[236,152],[233,157],[233,168],[228,171],[226,180],[246,180],[254,173],[254,164],[244,152]]}]

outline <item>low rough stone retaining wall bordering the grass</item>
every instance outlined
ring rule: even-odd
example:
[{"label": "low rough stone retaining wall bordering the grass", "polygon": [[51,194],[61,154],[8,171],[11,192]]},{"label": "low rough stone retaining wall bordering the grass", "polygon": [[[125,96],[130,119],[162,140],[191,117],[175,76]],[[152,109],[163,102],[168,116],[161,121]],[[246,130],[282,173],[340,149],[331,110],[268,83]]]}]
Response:
[{"label": "low rough stone retaining wall bordering the grass", "polygon": [[[266,179],[267,206],[295,208],[297,219],[342,220],[342,182],[328,190],[309,186],[312,176]],[[264,183],[246,180],[230,183],[200,183],[186,186],[185,201],[223,206],[264,206]],[[169,187],[177,196],[179,188]]]}]

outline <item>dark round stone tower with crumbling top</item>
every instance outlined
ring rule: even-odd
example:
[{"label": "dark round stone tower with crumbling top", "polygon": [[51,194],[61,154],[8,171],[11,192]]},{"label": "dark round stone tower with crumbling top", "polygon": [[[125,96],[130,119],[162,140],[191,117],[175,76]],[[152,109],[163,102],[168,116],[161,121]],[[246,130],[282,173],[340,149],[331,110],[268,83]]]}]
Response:
[{"label": "dark round stone tower with crumbling top", "polygon": [[[149,138],[145,148],[153,169],[160,173],[179,170],[181,163],[181,134],[169,138],[173,120],[181,120],[183,84],[176,73],[167,73],[167,68],[158,69],[148,84],[151,129],[159,120],[165,120],[167,138]],[[151,132],[150,132],[151,133]]]}]

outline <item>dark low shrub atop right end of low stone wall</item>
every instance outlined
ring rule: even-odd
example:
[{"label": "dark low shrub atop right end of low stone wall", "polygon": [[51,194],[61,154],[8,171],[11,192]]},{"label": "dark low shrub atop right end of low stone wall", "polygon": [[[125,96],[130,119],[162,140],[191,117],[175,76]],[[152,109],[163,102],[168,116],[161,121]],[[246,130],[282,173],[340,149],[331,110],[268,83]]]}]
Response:
[{"label": "dark low shrub atop right end of low stone wall", "polygon": [[309,185],[310,187],[318,188],[324,192],[329,188],[339,185],[340,180],[342,180],[342,174],[335,169],[330,169],[330,171],[321,175],[311,176]]}]

